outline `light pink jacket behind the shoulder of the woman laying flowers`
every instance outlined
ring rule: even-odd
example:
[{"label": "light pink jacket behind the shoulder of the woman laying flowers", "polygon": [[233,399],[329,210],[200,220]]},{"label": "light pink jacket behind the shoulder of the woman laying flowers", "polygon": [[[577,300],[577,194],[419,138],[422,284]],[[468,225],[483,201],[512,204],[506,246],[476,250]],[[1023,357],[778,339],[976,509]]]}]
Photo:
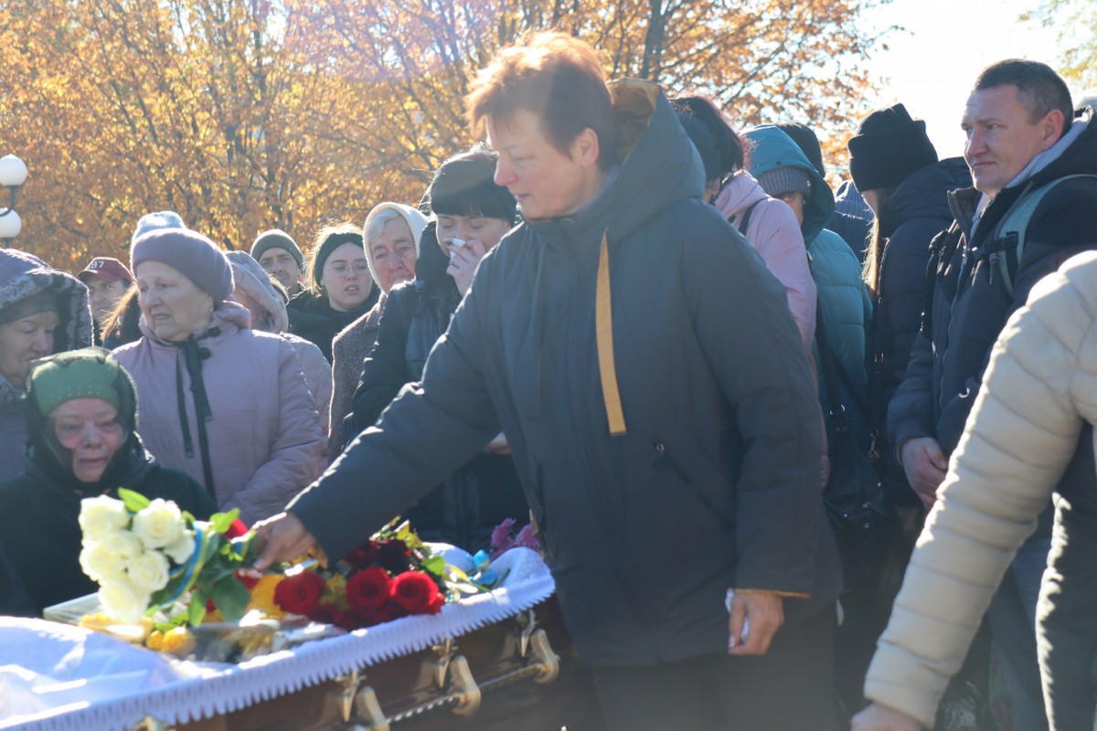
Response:
[{"label": "light pink jacket behind the shoulder of the woman laying flowers", "polygon": [[815,281],[807,267],[807,249],[796,215],[781,201],[769,197],[745,170],[727,180],[716,196],[715,206],[736,230],[739,216],[754,206],[744,236],[784,285],[792,319],[800,329],[804,347],[811,353],[815,339]]}]

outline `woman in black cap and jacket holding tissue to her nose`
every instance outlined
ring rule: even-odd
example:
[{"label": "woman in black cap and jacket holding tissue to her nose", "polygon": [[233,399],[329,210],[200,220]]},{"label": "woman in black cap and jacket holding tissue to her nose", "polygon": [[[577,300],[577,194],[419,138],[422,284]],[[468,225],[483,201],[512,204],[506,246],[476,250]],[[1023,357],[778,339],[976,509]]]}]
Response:
[{"label": "woman in black cap and jacket holding tissue to her nose", "polygon": [[[388,295],[377,344],[354,393],[355,427],[373,424],[405,384],[422,377],[427,355],[472,286],[479,261],[513,226],[516,202],[495,184],[495,152],[477,145],[434,173],[423,197],[430,222],[422,232],[415,279]],[[404,517],[426,540],[475,552],[488,547],[495,526],[508,517],[522,524],[528,514],[500,434]]]}]

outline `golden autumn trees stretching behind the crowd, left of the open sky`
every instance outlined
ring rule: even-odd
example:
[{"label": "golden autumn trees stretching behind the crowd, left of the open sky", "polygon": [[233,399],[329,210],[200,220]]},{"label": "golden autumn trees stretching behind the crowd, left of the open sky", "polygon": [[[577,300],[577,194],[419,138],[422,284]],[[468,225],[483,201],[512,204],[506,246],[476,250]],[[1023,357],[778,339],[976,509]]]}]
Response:
[{"label": "golden autumn trees stretching behind the crowd, left of the open sky", "polygon": [[472,141],[476,69],[544,28],[589,41],[611,78],[844,139],[864,111],[874,1],[8,0],[0,151],[31,169],[18,245],[73,269],[124,258],[149,210],[240,248],[415,203]]}]

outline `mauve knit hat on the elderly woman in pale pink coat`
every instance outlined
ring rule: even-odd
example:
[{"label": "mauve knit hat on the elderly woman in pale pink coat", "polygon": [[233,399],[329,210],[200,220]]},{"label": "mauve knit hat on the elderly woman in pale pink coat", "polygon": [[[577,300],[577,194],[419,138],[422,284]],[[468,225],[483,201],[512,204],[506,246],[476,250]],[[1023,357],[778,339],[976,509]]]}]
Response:
[{"label": "mauve knit hat on the elderly woman in pale pink coat", "polygon": [[213,297],[215,306],[233,294],[233,267],[225,252],[197,231],[161,228],[142,235],[129,250],[129,269],[136,274],[148,261],[179,270]]}]

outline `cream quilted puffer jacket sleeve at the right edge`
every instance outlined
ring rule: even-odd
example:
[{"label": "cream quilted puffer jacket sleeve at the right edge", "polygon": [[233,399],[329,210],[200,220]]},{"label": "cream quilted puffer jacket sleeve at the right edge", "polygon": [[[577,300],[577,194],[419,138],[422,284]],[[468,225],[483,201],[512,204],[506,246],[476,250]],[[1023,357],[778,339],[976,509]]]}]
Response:
[{"label": "cream quilted puffer jacket sleeve at the right edge", "polygon": [[[995,344],[869,669],[866,696],[932,726],[949,678],[1086,422],[1097,423],[1093,252],[1033,287]],[[1056,526],[1056,541],[1059,534]],[[1044,602],[1041,596],[1041,615]]]}]

